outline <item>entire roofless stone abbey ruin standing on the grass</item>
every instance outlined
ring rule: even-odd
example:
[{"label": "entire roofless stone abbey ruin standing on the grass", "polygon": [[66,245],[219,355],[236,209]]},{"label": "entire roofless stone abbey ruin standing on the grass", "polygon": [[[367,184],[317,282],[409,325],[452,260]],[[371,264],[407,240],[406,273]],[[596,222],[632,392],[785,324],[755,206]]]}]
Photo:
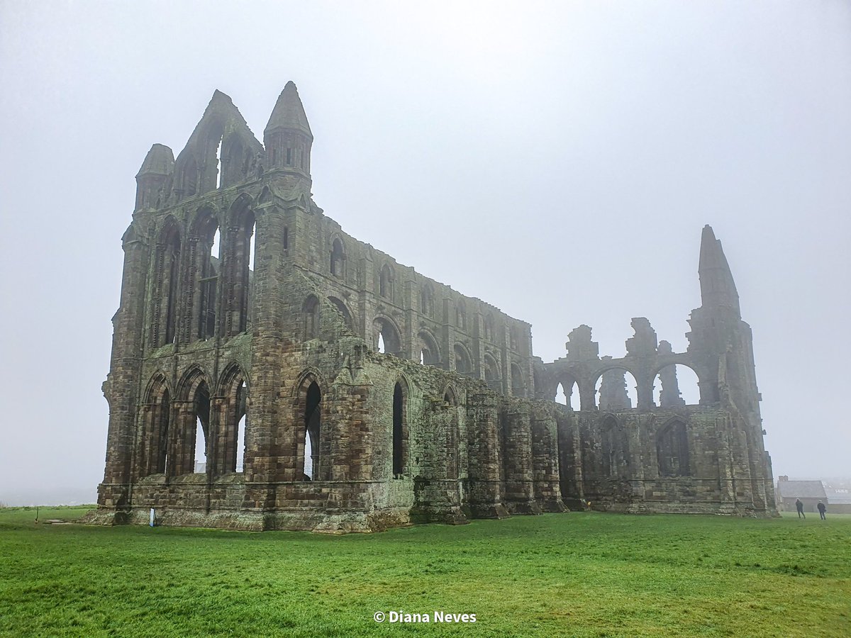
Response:
[{"label": "entire roofless stone abbey ruin standing on the grass", "polygon": [[[123,236],[90,522],[146,523],[155,508],[164,525],[368,532],[589,500],[776,512],[751,330],[709,226],[687,351],[635,318],[623,358],[580,326],[545,363],[529,323],[327,217],[312,140],[288,83],[262,144],[216,91],[176,160],[151,147]],[[697,405],[677,365],[699,379]],[[554,401],[559,386],[574,407]]]}]

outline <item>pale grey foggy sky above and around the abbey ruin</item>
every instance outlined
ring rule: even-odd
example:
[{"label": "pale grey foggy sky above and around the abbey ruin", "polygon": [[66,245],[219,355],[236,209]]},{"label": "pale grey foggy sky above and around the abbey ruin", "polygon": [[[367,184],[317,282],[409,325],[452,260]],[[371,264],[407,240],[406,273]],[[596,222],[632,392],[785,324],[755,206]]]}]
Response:
[{"label": "pale grey foggy sky above and around the abbey ruin", "polygon": [[775,476],[851,474],[851,4],[4,0],[0,501],[94,499],[146,151],[215,88],[262,141],[290,79],[325,213],[545,361],[633,316],[683,350],[711,224]]}]

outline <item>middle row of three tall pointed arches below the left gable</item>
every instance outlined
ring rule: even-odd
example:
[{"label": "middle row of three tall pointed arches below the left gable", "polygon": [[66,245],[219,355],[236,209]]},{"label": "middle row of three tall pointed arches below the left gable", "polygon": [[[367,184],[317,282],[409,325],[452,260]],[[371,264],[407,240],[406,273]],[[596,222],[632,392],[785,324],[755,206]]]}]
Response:
[{"label": "middle row of three tall pointed arches below the left gable", "polygon": [[153,347],[248,328],[255,227],[248,196],[237,198],[224,224],[210,207],[197,212],[185,233],[174,217],[165,219],[154,250]]}]

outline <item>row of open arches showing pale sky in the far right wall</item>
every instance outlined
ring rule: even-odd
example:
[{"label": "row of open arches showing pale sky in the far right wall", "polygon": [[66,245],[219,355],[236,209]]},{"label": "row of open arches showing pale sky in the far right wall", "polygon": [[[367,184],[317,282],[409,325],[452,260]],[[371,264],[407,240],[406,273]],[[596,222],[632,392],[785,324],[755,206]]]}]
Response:
[{"label": "row of open arches showing pale sky in the far right wall", "polygon": [[[653,405],[674,408],[700,403],[700,379],[691,367],[674,363],[662,367],[653,380]],[[594,379],[594,405],[602,410],[628,410],[638,406],[638,385],[624,367],[612,367]],[[580,385],[569,373],[558,378],[554,400],[580,410]]]}]

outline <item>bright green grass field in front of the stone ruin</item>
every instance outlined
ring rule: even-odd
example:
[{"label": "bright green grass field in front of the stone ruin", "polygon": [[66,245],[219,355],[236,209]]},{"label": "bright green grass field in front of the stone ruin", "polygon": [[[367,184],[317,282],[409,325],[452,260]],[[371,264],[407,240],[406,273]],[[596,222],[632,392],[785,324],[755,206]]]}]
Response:
[{"label": "bright green grass field in front of the stone ruin", "polygon": [[[333,537],[5,509],[0,632],[848,636],[851,516],[828,516],[571,513]],[[393,610],[476,623],[375,622]]]}]

